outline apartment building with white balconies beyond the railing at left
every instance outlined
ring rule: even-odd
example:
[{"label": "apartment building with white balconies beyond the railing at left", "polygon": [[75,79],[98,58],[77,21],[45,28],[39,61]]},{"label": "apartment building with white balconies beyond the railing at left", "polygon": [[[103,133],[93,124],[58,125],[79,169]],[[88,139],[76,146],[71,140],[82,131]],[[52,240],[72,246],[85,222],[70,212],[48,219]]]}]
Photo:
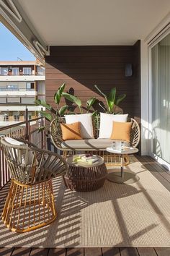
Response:
[{"label": "apartment building with white balconies beyond the railing at left", "polygon": [[39,61],[0,61],[0,125],[37,116],[35,100],[45,99],[45,67]]}]

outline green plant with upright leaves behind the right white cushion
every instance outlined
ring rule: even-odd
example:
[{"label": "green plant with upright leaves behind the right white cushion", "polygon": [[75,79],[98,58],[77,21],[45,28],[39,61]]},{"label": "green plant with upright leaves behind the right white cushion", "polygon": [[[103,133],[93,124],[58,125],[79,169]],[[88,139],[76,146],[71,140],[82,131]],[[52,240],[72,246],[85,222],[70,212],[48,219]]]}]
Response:
[{"label": "green plant with upright leaves behind the right white cushion", "polygon": [[119,103],[126,97],[125,94],[117,96],[116,88],[112,88],[108,94],[105,94],[97,87],[97,85],[94,85],[94,87],[99,91],[99,93],[104,97],[106,101],[104,106],[102,106],[101,103],[99,103],[99,106],[101,106],[104,111],[109,114],[115,113],[116,106],[118,106]]}]

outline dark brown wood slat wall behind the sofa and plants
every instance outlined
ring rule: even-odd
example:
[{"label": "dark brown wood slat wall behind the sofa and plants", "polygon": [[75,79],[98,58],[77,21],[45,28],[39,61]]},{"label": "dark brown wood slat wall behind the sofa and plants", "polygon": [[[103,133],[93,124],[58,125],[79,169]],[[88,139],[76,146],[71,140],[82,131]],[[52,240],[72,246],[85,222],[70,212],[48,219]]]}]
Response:
[{"label": "dark brown wood slat wall behind the sofa and plants", "polygon": [[[139,45],[140,41],[134,46],[51,46],[45,58],[46,101],[53,105],[53,95],[63,82],[84,105],[91,96],[103,101],[95,84],[105,93],[115,86],[118,94],[127,94],[120,104],[124,113],[140,120]],[[132,77],[125,77],[128,63],[133,64]]]}]

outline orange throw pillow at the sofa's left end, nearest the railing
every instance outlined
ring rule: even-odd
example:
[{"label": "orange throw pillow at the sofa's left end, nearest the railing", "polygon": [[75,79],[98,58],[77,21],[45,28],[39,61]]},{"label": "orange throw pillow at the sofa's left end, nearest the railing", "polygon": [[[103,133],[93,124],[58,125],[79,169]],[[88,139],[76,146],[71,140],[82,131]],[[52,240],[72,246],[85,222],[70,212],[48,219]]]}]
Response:
[{"label": "orange throw pillow at the sofa's left end, nearest the railing", "polygon": [[61,124],[63,140],[81,140],[80,122],[73,124]]}]

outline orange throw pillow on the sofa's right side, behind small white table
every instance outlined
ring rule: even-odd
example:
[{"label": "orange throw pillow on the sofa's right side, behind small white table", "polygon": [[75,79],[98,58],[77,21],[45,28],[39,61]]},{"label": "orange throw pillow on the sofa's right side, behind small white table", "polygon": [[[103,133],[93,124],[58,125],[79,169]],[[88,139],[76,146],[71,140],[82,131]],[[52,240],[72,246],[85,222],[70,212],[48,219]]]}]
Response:
[{"label": "orange throw pillow on the sofa's right side, behind small white table", "polygon": [[110,139],[126,140],[130,142],[131,127],[132,127],[132,122],[113,121],[112,135]]}]

